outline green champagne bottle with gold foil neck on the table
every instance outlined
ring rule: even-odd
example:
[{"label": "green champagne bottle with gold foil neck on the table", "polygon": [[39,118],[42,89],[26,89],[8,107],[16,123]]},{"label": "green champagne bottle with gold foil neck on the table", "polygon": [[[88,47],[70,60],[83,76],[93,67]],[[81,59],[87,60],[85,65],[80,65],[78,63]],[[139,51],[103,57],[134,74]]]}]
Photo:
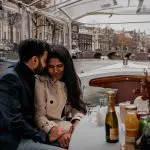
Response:
[{"label": "green champagne bottle with gold foil neck on the table", "polygon": [[108,91],[108,109],[105,118],[105,130],[106,142],[118,142],[118,118],[115,112],[115,92],[113,91]]}]

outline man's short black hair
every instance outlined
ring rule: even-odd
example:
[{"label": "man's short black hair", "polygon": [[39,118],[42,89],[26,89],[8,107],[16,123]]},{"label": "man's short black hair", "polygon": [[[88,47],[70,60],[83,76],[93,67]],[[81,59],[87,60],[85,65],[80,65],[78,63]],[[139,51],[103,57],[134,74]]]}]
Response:
[{"label": "man's short black hair", "polygon": [[42,56],[49,46],[37,39],[23,40],[18,44],[18,54],[21,62],[28,62],[33,56]]}]

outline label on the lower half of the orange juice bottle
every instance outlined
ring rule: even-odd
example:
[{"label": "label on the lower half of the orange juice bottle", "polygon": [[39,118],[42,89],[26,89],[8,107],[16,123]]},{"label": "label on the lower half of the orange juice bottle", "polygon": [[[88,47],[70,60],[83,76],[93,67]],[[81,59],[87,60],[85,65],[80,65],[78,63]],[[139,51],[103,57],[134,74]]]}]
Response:
[{"label": "label on the lower half of the orange juice bottle", "polygon": [[136,137],[138,135],[138,129],[126,129],[126,142],[135,143]]}]

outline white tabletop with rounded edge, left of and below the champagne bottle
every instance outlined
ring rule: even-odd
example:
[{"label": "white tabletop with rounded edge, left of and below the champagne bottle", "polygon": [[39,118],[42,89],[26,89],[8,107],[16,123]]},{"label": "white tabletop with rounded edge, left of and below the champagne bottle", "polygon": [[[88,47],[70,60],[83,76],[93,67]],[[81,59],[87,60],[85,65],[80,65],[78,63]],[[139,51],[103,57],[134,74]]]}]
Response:
[{"label": "white tabletop with rounded edge, left of and below the champagne bottle", "polygon": [[107,143],[105,127],[91,124],[85,117],[72,135],[69,150],[120,150],[120,143]]}]

